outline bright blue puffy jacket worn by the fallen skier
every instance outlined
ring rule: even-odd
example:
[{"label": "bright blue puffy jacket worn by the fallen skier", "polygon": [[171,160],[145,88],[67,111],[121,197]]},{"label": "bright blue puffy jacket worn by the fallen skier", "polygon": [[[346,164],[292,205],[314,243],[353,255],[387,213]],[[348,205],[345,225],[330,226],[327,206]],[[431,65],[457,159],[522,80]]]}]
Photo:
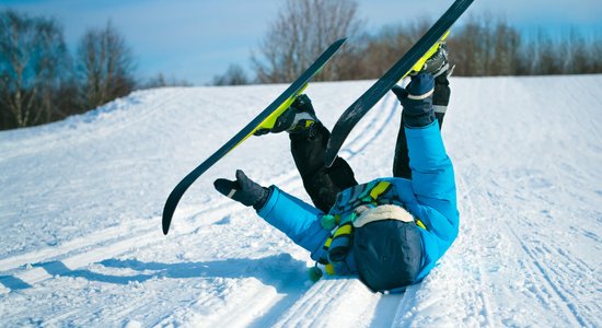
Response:
[{"label": "bright blue puffy jacket worn by the fallen skier", "polygon": [[[422,128],[405,129],[412,179],[385,177],[378,180],[390,181],[396,188],[400,202],[426,227],[420,229],[422,258],[417,277],[420,281],[458,236],[459,212],[453,166],[445,153],[437,120]],[[317,260],[324,251],[331,231],[321,225],[325,213],[313,206],[273,186],[269,199],[258,214],[308,249],[312,259]],[[357,273],[352,254],[347,257],[349,273]]]}]

